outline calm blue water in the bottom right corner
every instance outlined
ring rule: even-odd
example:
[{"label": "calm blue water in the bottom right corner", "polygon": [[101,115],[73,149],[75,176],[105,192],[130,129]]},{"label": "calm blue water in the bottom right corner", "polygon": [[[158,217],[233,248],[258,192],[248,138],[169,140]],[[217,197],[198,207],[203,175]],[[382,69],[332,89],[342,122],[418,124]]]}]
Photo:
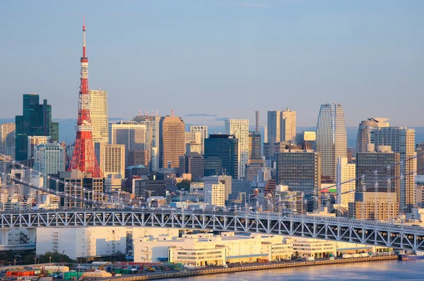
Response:
[{"label": "calm blue water in the bottom right corner", "polygon": [[244,271],[200,275],[181,280],[424,280],[424,260],[416,261],[372,261],[343,263],[337,265],[314,265],[301,268],[278,268],[271,270]]}]

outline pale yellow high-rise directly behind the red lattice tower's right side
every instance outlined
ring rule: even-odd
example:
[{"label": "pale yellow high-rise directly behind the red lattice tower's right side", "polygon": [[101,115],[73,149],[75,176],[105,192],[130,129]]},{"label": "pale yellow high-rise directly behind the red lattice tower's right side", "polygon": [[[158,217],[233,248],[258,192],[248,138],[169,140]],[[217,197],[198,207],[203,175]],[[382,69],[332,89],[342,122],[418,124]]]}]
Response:
[{"label": "pale yellow high-rise directly behind the red lattice tower's right side", "polygon": [[89,90],[90,116],[93,125],[93,143],[109,141],[109,117],[107,115],[107,91]]}]

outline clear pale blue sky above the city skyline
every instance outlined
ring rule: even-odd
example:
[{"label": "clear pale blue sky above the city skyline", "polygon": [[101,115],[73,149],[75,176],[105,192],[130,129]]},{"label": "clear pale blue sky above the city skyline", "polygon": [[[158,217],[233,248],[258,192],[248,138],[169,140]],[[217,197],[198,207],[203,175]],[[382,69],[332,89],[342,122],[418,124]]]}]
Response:
[{"label": "clear pale blue sky above the city skyline", "polygon": [[[0,1],[0,118],[22,95],[76,118],[83,15],[89,85],[109,116],[139,110],[223,124],[289,107],[315,126],[320,104],[347,126],[371,116],[424,126],[424,1]],[[200,115],[200,116],[199,116]]]}]

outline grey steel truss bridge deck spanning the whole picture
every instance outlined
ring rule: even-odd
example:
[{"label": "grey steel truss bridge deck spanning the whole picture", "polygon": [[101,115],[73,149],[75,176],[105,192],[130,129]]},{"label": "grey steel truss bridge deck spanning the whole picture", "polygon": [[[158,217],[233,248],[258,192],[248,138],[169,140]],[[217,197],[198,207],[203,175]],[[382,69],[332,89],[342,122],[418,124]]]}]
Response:
[{"label": "grey steel truss bridge deck spanning the whole picture", "polygon": [[172,227],[281,234],[424,251],[424,228],[344,217],[278,213],[175,210],[170,208],[88,208],[1,212],[0,227]]}]

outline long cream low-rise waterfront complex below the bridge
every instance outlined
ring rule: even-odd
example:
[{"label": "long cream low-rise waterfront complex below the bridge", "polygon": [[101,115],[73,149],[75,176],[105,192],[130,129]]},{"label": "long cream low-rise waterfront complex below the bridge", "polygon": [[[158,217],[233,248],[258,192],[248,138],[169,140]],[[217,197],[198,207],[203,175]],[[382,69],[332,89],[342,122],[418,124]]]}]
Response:
[{"label": "long cream low-rise waterfront complex below the bridge", "polygon": [[214,236],[186,234],[182,238],[160,236],[158,239],[134,239],[136,263],[183,263],[186,266],[225,265],[290,259],[293,246],[278,235],[234,234]]}]

